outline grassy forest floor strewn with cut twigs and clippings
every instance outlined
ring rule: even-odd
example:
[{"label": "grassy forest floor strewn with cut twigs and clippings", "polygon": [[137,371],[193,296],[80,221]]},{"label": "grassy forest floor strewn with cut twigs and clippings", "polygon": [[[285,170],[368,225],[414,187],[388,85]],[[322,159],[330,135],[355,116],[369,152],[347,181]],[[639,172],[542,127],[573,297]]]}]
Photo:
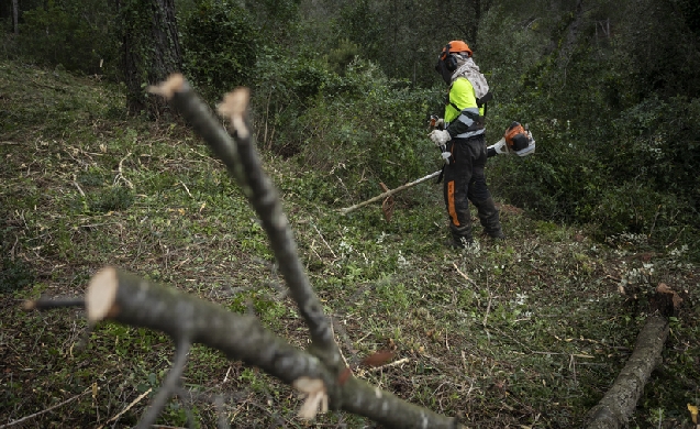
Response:
[{"label": "grassy forest floor strewn with cut twigs and clippings", "polygon": [[[184,124],[126,118],[123,105],[97,78],[0,62],[0,428],[131,427],[148,406],[171,364],[169,338],[90,330],[75,309],[22,309],[41,295],[80,296],[105,265],[255,311],[307,344],[267,238],[222,164]],[[479,237],[479,249],[453,251],[434,184],[397,195],[390,222],[377,205],[342,216],[358,201],[332,172],[262,156],[346,360],[391,349],[402,362],[356,376],[468,427],[580,427],[665,283],[684,301],[630,427],[693,427],[700,273],[687,249],[599,243],[501,205],[504,242]],[[337,200],[316,198],[322,182]],[[201,428],[220,417],[236,428],[375,427],[340,411],[299,420],[291,388],[204,346],[191,351],[184,387],[159,427],[188,416]]]}]

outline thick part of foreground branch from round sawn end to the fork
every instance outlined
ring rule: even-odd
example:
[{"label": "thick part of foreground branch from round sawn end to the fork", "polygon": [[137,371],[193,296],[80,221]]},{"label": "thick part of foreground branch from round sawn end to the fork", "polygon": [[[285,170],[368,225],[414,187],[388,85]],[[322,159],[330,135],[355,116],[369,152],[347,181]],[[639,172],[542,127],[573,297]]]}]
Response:
[{"label": "thick part of foreground branch from round sawn end to the fork", "polygon": [[332,378],[315,356],[267,331],[254,316],[231,312],[113,267],[100,271],[90,280],[86,309],[91,322],[109,319],[155,329],[176,343],[190,339],[288,384],[301,376]]}]

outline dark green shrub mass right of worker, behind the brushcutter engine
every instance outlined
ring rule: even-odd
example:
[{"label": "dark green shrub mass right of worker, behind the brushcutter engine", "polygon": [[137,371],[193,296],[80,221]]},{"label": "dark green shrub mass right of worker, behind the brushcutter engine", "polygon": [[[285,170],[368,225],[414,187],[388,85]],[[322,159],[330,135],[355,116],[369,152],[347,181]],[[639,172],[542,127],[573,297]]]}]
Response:
[{"label": "dark green shrub mass right of worker, behind the brushcutter engine", "polygon": [[640,94],[624,56],[586,44],[568,55],[576,66],[566,75],[555,50],[511,79],[513,97],[495,106],[490,130],[530,122],[537,140],[531,157],[489,163],[497,196],[544,219],[589,224],[600,239],[697,239],[700,102]]}]

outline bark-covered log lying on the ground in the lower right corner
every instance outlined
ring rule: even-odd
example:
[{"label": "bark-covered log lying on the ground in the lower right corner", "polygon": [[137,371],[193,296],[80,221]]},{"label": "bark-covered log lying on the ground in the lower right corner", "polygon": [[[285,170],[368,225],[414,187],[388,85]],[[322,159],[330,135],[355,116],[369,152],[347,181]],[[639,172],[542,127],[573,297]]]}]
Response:
[{"label": "bark-covered log lying on the ground in the lower right corner", "polygon": [[588,429],[626,427],[652,371],[662,361],[668,337],[668,321],[663,316],[649,316],[637,337],[632,356],[603,398],[587,416]]}]

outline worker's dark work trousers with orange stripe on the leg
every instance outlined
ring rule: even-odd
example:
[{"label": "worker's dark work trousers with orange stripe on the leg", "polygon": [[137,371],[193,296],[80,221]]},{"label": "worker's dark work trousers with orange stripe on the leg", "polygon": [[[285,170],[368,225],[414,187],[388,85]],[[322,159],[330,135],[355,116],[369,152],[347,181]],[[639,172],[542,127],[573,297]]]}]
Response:
[{"label": "worker's dark work trousers with orange stripe on the leg", "polygon": [[452,154],[445,165],[445,206],[449,216],[449,230],[455,242],[473,241],[469,201],[477,208],[484,230],[491,237],[502,234],[498,210],[486,186],[486,139],[484,134],[471,139],[447,142]]}]

